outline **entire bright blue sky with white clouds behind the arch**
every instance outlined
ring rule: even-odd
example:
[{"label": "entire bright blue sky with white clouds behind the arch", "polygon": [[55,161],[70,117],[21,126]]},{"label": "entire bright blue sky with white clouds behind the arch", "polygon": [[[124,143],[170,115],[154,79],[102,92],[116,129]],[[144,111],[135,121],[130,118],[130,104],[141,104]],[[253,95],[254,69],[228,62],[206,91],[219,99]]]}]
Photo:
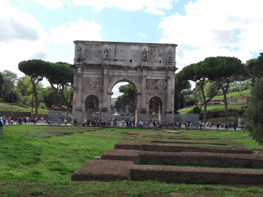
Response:
[{"label": "entire bright blue sky with white clouds behind the arch", "polygon": [[262,7],[262,0],[1,0],[1,70],[23,76],[17,65],[28,59],[72,64],[77,39],[178,44],[178,71],[208,56],[245,62],[263,51]]}]

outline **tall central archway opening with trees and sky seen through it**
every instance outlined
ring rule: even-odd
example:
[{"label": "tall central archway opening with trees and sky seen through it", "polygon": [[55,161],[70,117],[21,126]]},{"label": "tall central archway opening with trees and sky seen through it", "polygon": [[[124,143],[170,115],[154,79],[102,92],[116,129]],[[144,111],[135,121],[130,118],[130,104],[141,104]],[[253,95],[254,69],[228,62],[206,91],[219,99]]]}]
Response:
[{"label": "tall central archway opening with trees and sky seen through it", "polygon": [[136,113],[137,91],[135,85],[128,81],[116,83],[112,88],[111,122],[117,127],[134,127]]}]

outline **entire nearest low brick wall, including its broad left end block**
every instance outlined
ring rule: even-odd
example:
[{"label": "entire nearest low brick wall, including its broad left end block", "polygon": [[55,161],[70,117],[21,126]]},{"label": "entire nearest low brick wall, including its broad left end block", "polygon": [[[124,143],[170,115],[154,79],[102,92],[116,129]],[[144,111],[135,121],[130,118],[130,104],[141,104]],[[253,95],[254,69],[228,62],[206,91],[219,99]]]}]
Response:
[{"label": "entire nearest low brick wall, including its broad left end block", "polygon": [[135,165],[128,161],[91,160],[71,180],[158,180],[184,183],[201,179],[214,184],[263,184],[263,170]]}]

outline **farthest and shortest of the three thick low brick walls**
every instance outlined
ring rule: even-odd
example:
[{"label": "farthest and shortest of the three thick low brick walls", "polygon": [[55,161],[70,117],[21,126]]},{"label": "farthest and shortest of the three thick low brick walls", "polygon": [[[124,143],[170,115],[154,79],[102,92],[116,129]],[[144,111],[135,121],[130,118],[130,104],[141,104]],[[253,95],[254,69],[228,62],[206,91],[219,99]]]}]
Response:
[{"label": "farthest and shortest of the three thick low brick walls", "polygon": [[214,147],[214,146],[182,146],[177,144],[158,144],[143,142],[117,142],[114,149],[129,149],[155,152],[207,152],[207,153],[230,153],[230,154],[253,154],[249,148]]}]

